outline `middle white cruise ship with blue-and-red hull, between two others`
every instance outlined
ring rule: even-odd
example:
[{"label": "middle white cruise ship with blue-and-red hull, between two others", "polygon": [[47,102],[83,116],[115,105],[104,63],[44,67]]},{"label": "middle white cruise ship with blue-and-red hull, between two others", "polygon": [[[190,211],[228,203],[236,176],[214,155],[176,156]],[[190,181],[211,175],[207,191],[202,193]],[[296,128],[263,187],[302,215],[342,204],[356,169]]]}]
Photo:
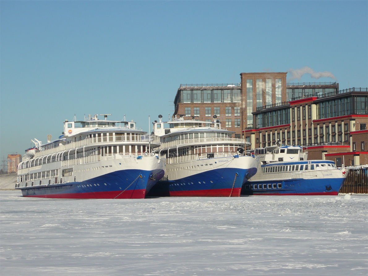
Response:
[{"label": "middle white cruise ship with blue-and-red hull, between two others", "polygon": [[[214,121],[184,116],[153,123],[160,137],[156,151],[166,157],[166,172],[151,196],[239,197],[242,185],[257,170],[258,158],[245,155],[244,139]],[[247,146],[250,144],[248,143]]]}]

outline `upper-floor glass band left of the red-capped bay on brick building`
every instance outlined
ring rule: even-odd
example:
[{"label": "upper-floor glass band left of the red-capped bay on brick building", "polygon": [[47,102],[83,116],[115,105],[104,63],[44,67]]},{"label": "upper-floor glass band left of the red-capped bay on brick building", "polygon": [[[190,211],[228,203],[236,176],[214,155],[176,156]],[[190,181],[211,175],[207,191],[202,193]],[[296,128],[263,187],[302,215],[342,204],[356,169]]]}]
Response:
[{"label": "upper-floor glass band left of the red-capped bay on brick building", "polygon": [[256,115],[256,127],[273,127],[290,124],[290,109],[280,109]]}]

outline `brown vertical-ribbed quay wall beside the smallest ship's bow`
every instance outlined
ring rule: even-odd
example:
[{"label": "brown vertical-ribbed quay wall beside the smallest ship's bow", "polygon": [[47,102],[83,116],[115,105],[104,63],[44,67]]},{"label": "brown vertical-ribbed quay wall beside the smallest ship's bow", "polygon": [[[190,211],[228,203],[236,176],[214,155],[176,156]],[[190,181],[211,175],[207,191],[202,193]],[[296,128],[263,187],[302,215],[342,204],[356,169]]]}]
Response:
[{"label": "brown vertical-ribbed quay wall beside the smallest ship's bow", "polygon": [[341,187],[341,193],[368,194],[367,169],[350,169],[347,178]]}]

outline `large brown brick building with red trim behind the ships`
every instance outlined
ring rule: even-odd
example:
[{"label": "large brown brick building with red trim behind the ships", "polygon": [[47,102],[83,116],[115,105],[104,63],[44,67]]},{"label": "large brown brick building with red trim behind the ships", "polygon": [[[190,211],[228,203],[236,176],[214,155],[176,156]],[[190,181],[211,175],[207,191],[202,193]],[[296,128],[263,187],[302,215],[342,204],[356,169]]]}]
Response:
[{"label": "large brown brick building with red trim behind the ships", "polygon": [[252,148],[308,147],[308,159],[367,164],[368,90],[336,82],[286,83],[286,72],[241,73],[238,84],[180,85],[175,113],[213,115]]}]

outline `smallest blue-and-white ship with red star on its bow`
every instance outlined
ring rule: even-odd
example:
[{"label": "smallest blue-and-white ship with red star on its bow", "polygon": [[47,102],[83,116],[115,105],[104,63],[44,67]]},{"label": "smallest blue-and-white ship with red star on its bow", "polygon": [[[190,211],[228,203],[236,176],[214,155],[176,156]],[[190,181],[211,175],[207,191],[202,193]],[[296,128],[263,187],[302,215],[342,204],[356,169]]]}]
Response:
[{"label": "smallest blue-and-white ship with red star on its bow", "polygon": [[243,185],[242,195],[337,195],[348,174],[329,160],[307,160],[301,146],[254,149],[258,171]]}]

